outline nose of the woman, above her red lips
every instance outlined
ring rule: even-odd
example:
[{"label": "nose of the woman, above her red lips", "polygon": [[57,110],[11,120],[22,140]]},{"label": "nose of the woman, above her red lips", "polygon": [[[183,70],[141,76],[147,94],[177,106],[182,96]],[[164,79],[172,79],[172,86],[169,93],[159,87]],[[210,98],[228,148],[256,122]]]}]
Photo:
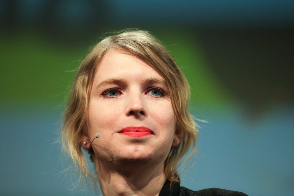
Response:
[{"label": "nose of the woman, above her red lips", "polygon": [[126,115],[134,115],[136,118],[146,115],[144,95],[130,93],[126,99]]}]

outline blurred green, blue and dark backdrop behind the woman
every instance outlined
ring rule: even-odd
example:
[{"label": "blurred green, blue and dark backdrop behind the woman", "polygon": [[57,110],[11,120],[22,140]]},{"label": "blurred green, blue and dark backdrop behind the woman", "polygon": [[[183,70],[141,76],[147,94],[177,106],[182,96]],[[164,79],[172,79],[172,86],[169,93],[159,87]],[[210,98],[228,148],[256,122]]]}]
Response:
[{"label": "blurred green, blue and dark backdrop behind the woman", "polygon": [[[107,32],[148,30],[191,85],[182,186],[294,192],[294,1],[0,1],[0,195],[91,195],[57,142],[76,69]],[[69,171],[68,173],[71,173]]]}]

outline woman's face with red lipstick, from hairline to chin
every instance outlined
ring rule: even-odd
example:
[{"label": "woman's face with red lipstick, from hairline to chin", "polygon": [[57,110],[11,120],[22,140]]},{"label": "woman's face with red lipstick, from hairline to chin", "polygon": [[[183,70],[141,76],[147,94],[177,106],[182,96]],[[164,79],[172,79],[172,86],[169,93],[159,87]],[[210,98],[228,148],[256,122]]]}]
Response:
[{"label": "woman's face with red lipstick, from hairline to chin", "polygon": [[92,147],[98,160],[163,164],[181,139],[164,77],[133,55],[108,51],[90,93],[88,141],[96,133],[101,136]]}]

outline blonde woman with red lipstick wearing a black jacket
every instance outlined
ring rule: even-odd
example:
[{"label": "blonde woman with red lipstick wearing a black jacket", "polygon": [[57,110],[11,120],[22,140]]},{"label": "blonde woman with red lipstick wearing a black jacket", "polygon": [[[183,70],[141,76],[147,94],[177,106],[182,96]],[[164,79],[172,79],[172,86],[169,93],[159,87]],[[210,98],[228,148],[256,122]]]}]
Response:
[{"label": "blonde woman with red lipstick wearing a black jacket", "polygon": [[97,180],[103,195],[245,195],[180,187],[179,160],[191,145],[195,150],[198,137],[189,98],[186,78],[148,32],[100,41],[77,72],[62,129],[80,179]]}]

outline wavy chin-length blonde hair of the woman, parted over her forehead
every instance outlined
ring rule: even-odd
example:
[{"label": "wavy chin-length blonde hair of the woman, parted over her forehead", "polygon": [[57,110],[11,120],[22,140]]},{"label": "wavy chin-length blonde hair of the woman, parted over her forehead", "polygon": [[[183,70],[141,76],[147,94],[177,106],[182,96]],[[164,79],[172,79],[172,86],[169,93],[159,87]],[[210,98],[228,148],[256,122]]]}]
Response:
[{"label": "wavy chin-length blonde hair of the woman, parted over her forehead", "polygon": [[190,87],[187,79],[176,65],[172,55],[162,44],[143,30],[126,30],[108,36],[100,41],[81,63],[70,93],[70,100],[64,112],[62,145],[73,160],[75,171],[81,179],[87,175],[95,181],[81,150],[81,136],[87,133],[89,91],[94,79],[96,65],[111,49],[126,51],[152,65],[165,78],[170,92],[171,104],[177,119],[177,129],[183,130],[183,138],[171,151],[165,161],[164,172],[167,179],[174,183],[179,180],[177,168],[180,160],[192,146],[194,153],[197,145],[198,130],[188,111]]}]

